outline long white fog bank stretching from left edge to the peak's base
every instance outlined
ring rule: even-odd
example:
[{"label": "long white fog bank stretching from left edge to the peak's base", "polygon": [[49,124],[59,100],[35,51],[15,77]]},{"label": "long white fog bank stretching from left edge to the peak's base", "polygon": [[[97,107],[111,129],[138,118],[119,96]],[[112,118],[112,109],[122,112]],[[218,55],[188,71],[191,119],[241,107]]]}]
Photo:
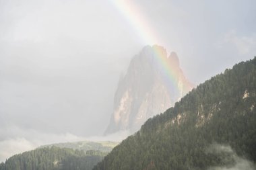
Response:
[{"label": "long white fog bank stretching from left edge to the peak's base", "polygon": [[38,146],[46,144],[54,144],[60,142],[77,142],[84,140],[92,141],[116,141],[129,136],[128,131],[121,131],[108,136],[77,136],[69,132],[66,133],[46,133],[34,129],[25,129],[18,126],[9,126],[0,129],[0,163],[9,157],[38,148]]}]

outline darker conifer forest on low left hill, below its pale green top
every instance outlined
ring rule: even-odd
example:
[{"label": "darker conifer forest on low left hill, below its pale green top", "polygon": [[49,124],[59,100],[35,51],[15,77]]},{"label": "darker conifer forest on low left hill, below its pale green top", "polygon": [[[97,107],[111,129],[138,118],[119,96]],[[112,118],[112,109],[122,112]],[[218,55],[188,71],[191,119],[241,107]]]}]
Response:
[{"label": "darker conifer forest on low left hill, below its pale green top", "polygon": [[51,146],[14,155],[0,164],[0,170],[86,170],[92,169],[105,155],[100,151]]}]

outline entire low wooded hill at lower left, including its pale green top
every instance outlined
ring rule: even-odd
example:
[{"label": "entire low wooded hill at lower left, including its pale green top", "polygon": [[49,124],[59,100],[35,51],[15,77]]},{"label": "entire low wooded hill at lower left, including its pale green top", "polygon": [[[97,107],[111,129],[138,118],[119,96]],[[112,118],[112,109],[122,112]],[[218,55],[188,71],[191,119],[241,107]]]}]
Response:
[{"label": "entire low wooded hill at lower left, including its pale green top", "polygon": [[40,146],[13,155],[5,163],[0,163],[0,170],[90,170],[117,144],[82,141]]}]

